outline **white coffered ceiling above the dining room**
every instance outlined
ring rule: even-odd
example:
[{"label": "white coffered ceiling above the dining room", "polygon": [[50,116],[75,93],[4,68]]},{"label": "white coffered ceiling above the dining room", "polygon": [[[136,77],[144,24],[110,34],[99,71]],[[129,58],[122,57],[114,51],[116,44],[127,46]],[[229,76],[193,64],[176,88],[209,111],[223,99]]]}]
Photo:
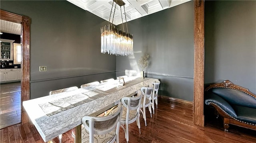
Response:
[{"label": "white coffered ceiling above the dining room", "polygon": [[[112,8],[112,0],[67,0],[72,4],[87,10],[95,14],[96,16],[103,18],[108,21],[110,17],[110,10]],[[125,13],[127,21],[131,21],[137,18],[141,18],[143,16],[147,16],[149,14],[153,14],[155,12],[159,12],[161,10],[171,8],[173,6],[177,6],[179,4],[183,4],[190,0],[123,0],[125,3]],[[114,8],[112,10],[113,16]],[[122,6],[122,15],[123,20],[125,22],[124,17],[124,9]],[[112,17],[111,16],[111,17]],[[110,20],[112,22],[112,18]],[[116,12],[114,16],[113,24],[118,25],[122,24],[120,6],[116,6]]]}]

